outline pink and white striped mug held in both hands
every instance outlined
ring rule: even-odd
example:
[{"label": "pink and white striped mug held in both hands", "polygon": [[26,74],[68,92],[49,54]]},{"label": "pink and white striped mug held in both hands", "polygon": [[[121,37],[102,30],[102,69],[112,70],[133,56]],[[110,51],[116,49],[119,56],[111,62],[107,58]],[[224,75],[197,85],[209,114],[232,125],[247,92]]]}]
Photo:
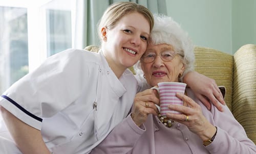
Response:
[{"label": "pink and white striped mug held in both hands", "polygon": [[161,82],[157,85],[158,87],[152,87],[151,89],[156,89],[159,93],[160,114],[166,115],[166,113],[168,112],[181,114],[178,111],[170,110],[168,108],[168,105],[172,104],[183,106],[183,101],[180,98],[176,97],[176,93],[184,93],[187,84],[179,82]]}]

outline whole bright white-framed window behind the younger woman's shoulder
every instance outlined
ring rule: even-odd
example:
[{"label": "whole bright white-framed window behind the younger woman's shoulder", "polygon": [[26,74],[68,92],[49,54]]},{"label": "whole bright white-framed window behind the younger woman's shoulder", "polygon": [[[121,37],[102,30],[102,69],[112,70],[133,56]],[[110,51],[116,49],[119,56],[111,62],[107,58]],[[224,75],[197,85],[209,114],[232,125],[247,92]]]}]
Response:
[{"label": "whole bright white-framed window behind the younger woman's shoulder", "polygon": [[0,92],[72,47],[70,0],[0,2]]}]

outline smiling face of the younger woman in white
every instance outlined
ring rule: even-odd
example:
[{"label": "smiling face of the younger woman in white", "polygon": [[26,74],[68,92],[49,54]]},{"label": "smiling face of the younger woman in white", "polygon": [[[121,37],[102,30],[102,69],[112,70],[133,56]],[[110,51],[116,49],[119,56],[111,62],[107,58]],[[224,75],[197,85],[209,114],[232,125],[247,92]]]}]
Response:
[{"label": "smiling face of the younger woman in white", "polygon": [[138,12],[123,16],[113,29],[102,28],[102,51],[113,71],[124,71],[144,54],[150,24]]}]

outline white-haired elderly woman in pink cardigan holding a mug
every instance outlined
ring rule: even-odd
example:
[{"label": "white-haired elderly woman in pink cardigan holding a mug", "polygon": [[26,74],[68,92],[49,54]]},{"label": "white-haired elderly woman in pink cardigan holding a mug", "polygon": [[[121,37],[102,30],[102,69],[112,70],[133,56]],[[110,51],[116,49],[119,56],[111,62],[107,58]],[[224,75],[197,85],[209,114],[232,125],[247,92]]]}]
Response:
[{"label": "white-haired elderly woman in pink cardigan holding a mug", "polygon": [[181,114],[168,113],[171,124],[163,124],[155,106],[157,92],[148,88],[181,82],[182,74],[193,69],[194,53],[187,34],[170,17],[155,16],[151,37],[140,60],[146,81],[141,88],[146,90],[136,95],[131,116],[92,153],[255,153],[255,144],[227,106],[220,112],[211,105],[209,111],[189,88],[177,94],[183,106],[169,106]]}]

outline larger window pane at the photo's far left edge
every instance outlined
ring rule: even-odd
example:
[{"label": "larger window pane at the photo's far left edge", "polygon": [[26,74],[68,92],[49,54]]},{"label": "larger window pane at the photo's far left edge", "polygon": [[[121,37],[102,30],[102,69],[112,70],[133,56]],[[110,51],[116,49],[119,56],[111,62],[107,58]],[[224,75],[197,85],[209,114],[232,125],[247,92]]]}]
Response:
[{"label": "larger window pane at the photo's far left edge", "polygon": [[28,73],[27,9],[0,7],[0,92]]}]

